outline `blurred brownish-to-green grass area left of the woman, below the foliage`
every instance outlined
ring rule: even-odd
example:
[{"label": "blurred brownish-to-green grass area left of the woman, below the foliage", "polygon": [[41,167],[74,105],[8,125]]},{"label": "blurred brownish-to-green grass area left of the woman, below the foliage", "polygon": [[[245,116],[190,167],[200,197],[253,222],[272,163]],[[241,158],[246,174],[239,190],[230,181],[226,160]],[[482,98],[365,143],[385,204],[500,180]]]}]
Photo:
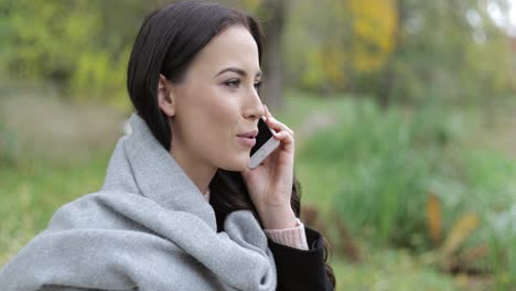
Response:
[{"label": "blurred brownish-to-green grass area left of the woman, below the foliage", "polygon": [[52,90],[0,96],[0,265],[63,204],[97,191],[123,114]]}]

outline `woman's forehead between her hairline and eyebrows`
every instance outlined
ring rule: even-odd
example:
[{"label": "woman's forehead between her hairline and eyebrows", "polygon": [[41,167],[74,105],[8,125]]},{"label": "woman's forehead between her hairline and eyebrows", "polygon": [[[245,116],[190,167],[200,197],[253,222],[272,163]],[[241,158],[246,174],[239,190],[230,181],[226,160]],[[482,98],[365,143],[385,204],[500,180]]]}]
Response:
[{"label": "woman's forehead between her hairline and eyebrows", "polygon": [[249,31],[241,25],[223,30],[198,52],[192,63],[193,71],[209,74],[229,66],[240,67],[251,74],[260,71],[258,45]]}]

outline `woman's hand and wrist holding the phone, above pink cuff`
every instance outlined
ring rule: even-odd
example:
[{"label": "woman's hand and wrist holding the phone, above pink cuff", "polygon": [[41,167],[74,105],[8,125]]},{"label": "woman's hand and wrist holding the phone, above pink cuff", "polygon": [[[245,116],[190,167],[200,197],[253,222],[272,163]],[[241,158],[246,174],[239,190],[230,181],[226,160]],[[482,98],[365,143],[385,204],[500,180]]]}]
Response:
[{"label": "woman's hand and wrist holding the phone, above pink cuff", "polygon": [[257,168],[241,172],[250,198],[266,229],[295,227],[295,215],[290,206],[293,182],[293,131],[276,120],[266,109],[266,123],[277,133],[280,146]]}]

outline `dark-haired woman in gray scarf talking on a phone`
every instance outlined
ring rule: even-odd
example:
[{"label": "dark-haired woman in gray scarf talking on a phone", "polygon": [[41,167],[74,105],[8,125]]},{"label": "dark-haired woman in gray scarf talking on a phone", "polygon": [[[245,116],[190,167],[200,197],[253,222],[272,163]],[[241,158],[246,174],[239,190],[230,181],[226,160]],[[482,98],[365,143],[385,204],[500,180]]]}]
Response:
[{"label": "dark-haired woman in gray scarf talking on a phone", "polygon": [[[149,15],[129,60],[132,132],[101,191],[60,208],[1,289],[332,290],[322,238],[297,218],[293,133],[258,96],[261,47],[238,10]],[[280,147],[249,170],[262,116]]]}]

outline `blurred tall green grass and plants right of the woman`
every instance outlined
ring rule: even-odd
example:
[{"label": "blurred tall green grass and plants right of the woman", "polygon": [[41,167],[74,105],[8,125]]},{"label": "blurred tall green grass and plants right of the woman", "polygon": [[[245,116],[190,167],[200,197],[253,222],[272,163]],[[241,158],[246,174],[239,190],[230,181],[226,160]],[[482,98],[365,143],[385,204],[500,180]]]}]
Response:
[{"label": "blurred tall green grass and plants right of the woman", "polygon": [[[318,123],[324,111],[327,116],[323,119],[332,121],[307,136],[302,127],[298,128],[297,174],[304,188],[304,203],[318,205],[324,213],[335,209],[353,236],[366,240],[361,247],[372,245],[375,250],[388,248],[394,254],[399,247],[409,247],[410,252],[398,254],[399,258],[419,260],[426,251],[434,251],[427,229],[427,202],[429,193],[434,193],[442,207],[444,238],[452,236],[452,227],[464,214],[480,217],[479,228],[461,240],[453,255],[462,255],[469,247],[488,246],[486,257],[466,262],[469,268],[487,272],[453,279],[431,265],[416,267],[412,276],[442,280],[450,289],[515,287],[510,273],[516,271],[516,234],[509,217],[516,202],[516,160],[506,138],[513,130],[506,125],[515,121],[510,118],[510,99],[507,106],[497,107],[493,117],[481,107],[430,104],[419,109],[397,106],[381,111],[367,99],[336,97],[321,101],[299,97],[292,98],[284,120],[302,120],[310,126],[311,120]],[[295,107],[298,104],[303,105]],[[335,263],[340,266],[338,278],[351,290],[364,289],[365,282],[369,282],[366,290],[375,290],[373,281],[389,285],[385,290],[448,290],[397,281],[407,270],[390,278],[387,273],[369,277],[374,272],[365,271],[364,278],[369,277],[369,281],[350,283],[353,279],[345,280],[350,269],[361,272],[370,268],[381,273],[381,265],[369,260],[359,266],[342,260]],[[390,263],[394,269],[400,267]]]}]

